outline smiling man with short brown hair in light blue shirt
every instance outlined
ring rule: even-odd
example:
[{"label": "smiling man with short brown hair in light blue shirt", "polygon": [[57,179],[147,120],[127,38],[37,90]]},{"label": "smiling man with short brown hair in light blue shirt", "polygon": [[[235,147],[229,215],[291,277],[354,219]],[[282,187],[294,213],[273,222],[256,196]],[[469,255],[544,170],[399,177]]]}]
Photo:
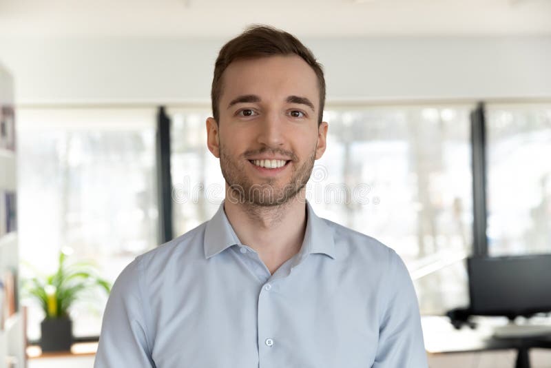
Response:
[{"label": "smiling man with short brown hair in light blue shirt", "polygon": [[427,367],[402,260],[304,200],[328,126],[311,52],[249,28],[220,50],[211,97],[225,201],[125,268],[95,367]]}]

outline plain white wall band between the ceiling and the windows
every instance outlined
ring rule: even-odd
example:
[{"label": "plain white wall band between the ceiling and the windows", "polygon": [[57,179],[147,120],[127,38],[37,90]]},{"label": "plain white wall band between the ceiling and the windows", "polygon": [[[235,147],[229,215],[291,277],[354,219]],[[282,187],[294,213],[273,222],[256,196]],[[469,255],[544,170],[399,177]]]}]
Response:
[{"label": "plain white wall band between the ceiling and the windows", "polygon": [[[223,40],[0,39],[17,103],[209,101]],[[328,98],[551,98],[551,36],[305,40]]]}]

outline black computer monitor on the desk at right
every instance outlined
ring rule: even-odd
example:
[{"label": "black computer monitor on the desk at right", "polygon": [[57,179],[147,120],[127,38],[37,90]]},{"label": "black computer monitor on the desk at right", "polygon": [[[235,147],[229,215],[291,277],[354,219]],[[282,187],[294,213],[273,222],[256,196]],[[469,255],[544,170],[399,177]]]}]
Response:
[{"label": "black computer monitor on the desk at right", "polygon": [[551,311],[551,254],[470,257],[470,313],[530,316]]}]

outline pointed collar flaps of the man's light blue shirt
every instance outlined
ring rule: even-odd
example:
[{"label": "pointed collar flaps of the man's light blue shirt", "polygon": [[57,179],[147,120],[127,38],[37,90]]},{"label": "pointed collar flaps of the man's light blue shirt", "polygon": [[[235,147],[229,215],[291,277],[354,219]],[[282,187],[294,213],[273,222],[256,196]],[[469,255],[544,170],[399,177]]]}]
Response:
[{"label": "pointed collar flaps of the man's light blue shirt", "polygon": [[[302,247],[300,247],[300,258],[302,259],[308,254],[321,253],[335,259],[333,231],[323,218],[316,216],[308,201],[306,201],[306,216],[306,231],[304,232]],[[205,258],[216,256],[216,254],[232,245],[241,245],[241,242],[229,223],[222,202],[216,214],[207,222],[205,227],[205,242],[203,245]]]}]

